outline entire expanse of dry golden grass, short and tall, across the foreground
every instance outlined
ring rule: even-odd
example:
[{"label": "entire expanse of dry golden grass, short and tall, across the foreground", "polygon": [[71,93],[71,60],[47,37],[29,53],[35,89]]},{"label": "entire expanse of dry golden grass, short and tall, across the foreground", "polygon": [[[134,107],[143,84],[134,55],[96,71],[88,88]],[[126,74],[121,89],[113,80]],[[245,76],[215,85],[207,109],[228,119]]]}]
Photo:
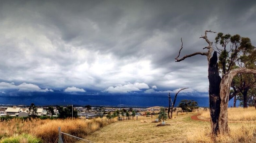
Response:
[{"label": "entire expanse of dry golden grass, short and tall, across the foreground", "polygon": [[[199,119],[193,120],[191,116],[198,115]],[[21,120],[12,119],[0,122],[0,143],[8,138],[18,139],[17,143],[27,143],[40,139],[41,142],[58,142],[58,127],[62,132],[90,140],[95,143],[213,143],[210,137],[210,118],[207,112],[200,109],[192,113],[176,113],[173,119],[167,119],[168,126],[157,126],[153,123],[157,116],[138,116],[133,120],[117,121],[116,118],[108,119],[65,119],[65,120]],[[229,136],[218,136],[216,142],[220,143],[256,143],[256,110],[255,108],[230,108],[228,109],[230,127]],[[64,135],[65,136],[65,135]],[[82,143],[76,139],[65,137],[65,141]]]}]

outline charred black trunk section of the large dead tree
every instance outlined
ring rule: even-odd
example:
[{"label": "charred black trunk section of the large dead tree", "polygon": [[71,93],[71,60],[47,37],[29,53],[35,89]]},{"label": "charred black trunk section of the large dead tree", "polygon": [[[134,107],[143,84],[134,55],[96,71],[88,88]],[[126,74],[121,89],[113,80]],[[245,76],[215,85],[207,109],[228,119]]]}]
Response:
[{"label": "charred black trunk section of the large dead tree", "polygon": [[218,72],[218,57],[215,51],[213,57],[210,59],[208,67],[209,79],[209,101],[210,101],[210,115],[211,115],[211,134],[217,135],[219,130],[218,117],[220,113],[220,96],[219,85],[220,76]]}]

